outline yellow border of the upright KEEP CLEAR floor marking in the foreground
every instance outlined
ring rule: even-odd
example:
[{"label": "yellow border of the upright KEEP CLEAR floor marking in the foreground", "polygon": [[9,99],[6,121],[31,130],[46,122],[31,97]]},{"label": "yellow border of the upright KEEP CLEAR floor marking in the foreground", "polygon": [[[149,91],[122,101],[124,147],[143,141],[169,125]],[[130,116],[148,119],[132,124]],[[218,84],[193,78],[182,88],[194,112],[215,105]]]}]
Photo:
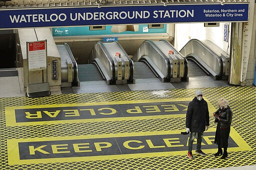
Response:
[{"label": "yellow border of the upright KEEP CLEAR floor marking in the foreground", "polygon": [[[61,157],[61,158],[42,158],[42,159],[27,159],[20,160],[19,157],[19,143],[29,143],[33,145],[34,142],[54,142],[54,141],[68,141],[68,140],[89,140],[89,139],[106,139],[106,138],[120,138],[120,137],[140,137],[140,136],[154,136],[154,135],[171,135],[180,134],[181,130],[175,131],[159,131],[159,132],[138,132],[138,133],[121,133],[121,134],[103,134],[103,135],[89,135],[89,136],[66,136],[66,137],[49,137],[49,138],[26,138],[26,139],[8,139],[8,164],[19,165],[19,164],[41,164],[41,163],[61,163],[61,162],[79,162],[79,161],[95,161],[95,160],[114,160],[114,159],[130,159],[130,158],[144,158],[144,157],[163,157],[163,156],[175,156],[175,155],[186,155],[187,146],[183,147],[183,151],[172,151],[172,152],[151,152],[151,153],[137,153],[137,154],[118,154],[118,155],[101,155],[101,156],[83,156],[83,157]],[[207,132],[215,132],[215,128],[209,128]],[[187,135],[187,139],[188,139]],[[235,142],[238,147],[228,148],[228,152],[236,151],[250,151],[250,146],[239,136],[239,134],[231,128],[230,138]],[[208,141],[207,145],[215,145],[213,141]],[[204,144],[203,144],[204,145]],[[102,147],[104,148],[104,147]],[[43,148],[41,148],[43,149]],[[63,152],[63,149],[58,148],[59,152]],[[205,153],[214,153],[216,149],[203,149]]]}]

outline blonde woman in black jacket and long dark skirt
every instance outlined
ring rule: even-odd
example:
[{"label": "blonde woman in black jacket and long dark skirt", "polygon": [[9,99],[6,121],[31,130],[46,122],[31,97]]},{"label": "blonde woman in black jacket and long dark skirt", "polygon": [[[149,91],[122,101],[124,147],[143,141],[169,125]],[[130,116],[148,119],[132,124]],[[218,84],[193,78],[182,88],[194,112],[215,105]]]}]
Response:
[{"label": "blonde woman in black jacket and long dark skirt", "polygon": [[225,159],[227,157],[227,141],[232,121],[232,111],[228,106],[228,101],[224,98],[219,100],[218,106],[218,110],[213,113],[215,117],[214,123],[217,123],[214,144],[218,145],[218,151],[214,156],[222,155],[223,148],[223,155],[220,159]]}]

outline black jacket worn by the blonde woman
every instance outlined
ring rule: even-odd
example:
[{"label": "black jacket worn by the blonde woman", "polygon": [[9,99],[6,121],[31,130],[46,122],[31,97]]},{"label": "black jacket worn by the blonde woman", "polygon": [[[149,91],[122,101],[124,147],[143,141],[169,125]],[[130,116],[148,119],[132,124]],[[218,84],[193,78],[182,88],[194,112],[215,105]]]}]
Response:
[{"label": "black jacket worn by the blonde woman", "polygon": [[228,106],[226,109],[218,109],[216,112],[218,118],[215,118],[215,123],[220,124],[220,128],[228,128],[232,122],[232,111]]}]

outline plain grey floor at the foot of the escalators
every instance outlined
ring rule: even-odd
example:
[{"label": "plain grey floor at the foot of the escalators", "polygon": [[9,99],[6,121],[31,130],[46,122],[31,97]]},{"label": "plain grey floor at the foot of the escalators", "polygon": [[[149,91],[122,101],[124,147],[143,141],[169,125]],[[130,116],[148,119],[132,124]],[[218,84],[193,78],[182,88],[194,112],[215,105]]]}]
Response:
[{"label": "plain grey floor at the foot of the escalators", "polygon": [[[93,93],[93,92],[114,92],[114,91],[136,91],[136,90],[167,90],[175,88],[203,88],[228,86],[228,80],[213,80],[207,76],[193,62],[188,61],[188,81],[162,83],[150,71],[147,65],[141,62],[134,62],[134,84],[106,85],[96,67],[91,65],[78,66],[79,87],[62,88],[62,93]],[[93,76],[88,76],[92,75]]]}]

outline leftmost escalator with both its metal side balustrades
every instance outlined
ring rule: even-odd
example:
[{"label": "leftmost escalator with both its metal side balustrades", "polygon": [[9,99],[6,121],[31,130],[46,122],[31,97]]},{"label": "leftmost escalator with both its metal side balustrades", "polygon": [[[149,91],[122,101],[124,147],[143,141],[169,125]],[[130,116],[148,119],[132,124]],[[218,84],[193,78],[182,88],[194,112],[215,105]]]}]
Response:
[{"label": "leftmost escalator with both its metal side balustrades", "polygon": [[[79,86],[80,82],[106,84],[133,83],[133,62],[118,42],[97,42],[89,55],[89,64],[76,64],[69,46],[56,45],[61,57],[61,86]],[[71,85],[70,85],[71,83]]]}]

